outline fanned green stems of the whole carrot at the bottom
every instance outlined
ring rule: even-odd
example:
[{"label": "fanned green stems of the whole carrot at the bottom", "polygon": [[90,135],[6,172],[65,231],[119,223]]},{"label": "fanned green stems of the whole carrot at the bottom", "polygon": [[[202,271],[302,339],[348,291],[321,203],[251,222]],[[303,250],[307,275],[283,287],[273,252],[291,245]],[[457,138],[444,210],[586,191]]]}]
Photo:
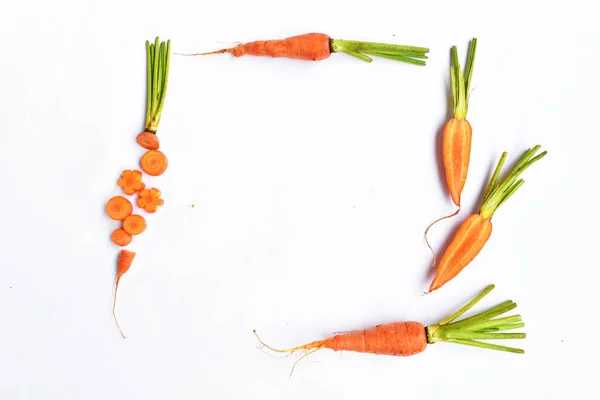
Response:
[{"label": "fanned green stems of the whole carrot at the bottom", "polygon": [[495,307],[482,311],[471,317],[453,322],[464,314],[467,310],[479,302],[485,295],[494,289],[494,285],[485,288],[477,297],[464,305],[460,310],[448,316],[435,325],[425,328],[427,332],[427,342],[448,342],[464,344],[468,346],[483,347],[491,350],[507,351],[510,353],[525,353],[522,349],[514,347],[501,346],[481,342],[480,340],[498,340],[498,339],[525,339],[525,333],[504,333],[503,331],[518,329],[525,326],[520,315],[495,318],[514,308],[517,304],[512,300],[507,300]]}]

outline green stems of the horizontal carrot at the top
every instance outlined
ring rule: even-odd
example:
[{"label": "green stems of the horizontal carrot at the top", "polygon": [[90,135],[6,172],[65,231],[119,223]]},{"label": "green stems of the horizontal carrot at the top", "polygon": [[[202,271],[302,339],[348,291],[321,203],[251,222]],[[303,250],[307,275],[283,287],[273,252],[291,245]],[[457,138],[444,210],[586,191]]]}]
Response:
[{"label": "green stems of the horizontal carrot at the top", "polygon": [[367,56],[369,54],[415,65],[425,65],[425,61],[421,59],[427,59],[425,53],[429,53],[429,49],[425,47],[341,39],[331,40],[331,51],[334,53],[346,53],[366,62],[373,61],[371,57]]}]

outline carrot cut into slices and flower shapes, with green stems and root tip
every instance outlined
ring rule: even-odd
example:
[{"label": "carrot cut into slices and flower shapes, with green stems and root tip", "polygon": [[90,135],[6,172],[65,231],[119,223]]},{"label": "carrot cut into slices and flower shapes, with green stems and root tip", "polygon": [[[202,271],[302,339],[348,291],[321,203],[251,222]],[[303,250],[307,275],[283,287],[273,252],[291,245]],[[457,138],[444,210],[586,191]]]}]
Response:
[{"label": "carrot cut into slices and flower shapes, with green stems and root tip", "polygon": [[[137,135],[136,141],[147,151],[140,160],[141,170],[149,176],[162,175],[168,166],[168,160],[165,154],[159,151],[160,142],[156,132],[162,113],[167,91],[167,82],[169,76],[169,60],[171,52],[171,41],[160,42],[156,38],[154,44],[146,41],[146,67],[147,67],[147,101],[146,101],[146,123],[144,130]],[[159,206],[164,204],[161,198],[162,192],[157,188],[146,188],[143,182],[143,173],[139,170],[126,169],[121,173],[117,184],[122,188],[126,196],[137,194],[135,204],[147,213],[155,213]],[[111,235],[113,243],[117,246],[125,247],[133,241],[133,237],[146,230],[146,218],[140,214],[133,213],[134,205],[126,197],[114,196],[106,203],[106,214],[115,220],[120,221],[121,226]],[[121,336],[123,331],[117,322],[115,316],[115,306],[117,299],[117,289],[119,281],[125,274],[136,253],[122,249],[117,262],[117,279],[115,283],[115,294],[113,302],[113,317]]]}]

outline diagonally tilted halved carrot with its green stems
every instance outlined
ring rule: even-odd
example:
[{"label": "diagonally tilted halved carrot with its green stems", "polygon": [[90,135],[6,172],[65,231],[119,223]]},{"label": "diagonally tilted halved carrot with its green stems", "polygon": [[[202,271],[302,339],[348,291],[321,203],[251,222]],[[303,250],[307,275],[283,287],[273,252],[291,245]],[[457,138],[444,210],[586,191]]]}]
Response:
[{"label": "diagonally tilted halved carrot with its green stems", "polygon": [[517,181],[518,176],[546,155],[547,152],[544,151],[534,157],[539,149],[540,146],[537,145],[525,151],[506,177],[498,183],[500,171],[507,157],[506,152],[502,154],[483,196],[479,213],[470,215],[461,224],[440,260],[428,293],[441,288],[458,275],[483,249],[492,234],[492,216],[525,183],[522,179]]}]

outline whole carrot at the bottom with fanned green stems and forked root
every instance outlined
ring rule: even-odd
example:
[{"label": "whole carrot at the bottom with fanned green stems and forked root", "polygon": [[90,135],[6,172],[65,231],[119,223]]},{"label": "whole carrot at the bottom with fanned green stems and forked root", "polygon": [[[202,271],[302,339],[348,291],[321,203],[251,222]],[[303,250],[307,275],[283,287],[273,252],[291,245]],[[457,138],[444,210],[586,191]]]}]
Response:
[{"label": "whole carrot at the bottom with fanned green stems and forked root", "polygon": [[412,356],[423,352],[428,344],[447,342],[523,354],[524,351],[522,349],[481,341],[524,339],[526,337],[525,333],[503,332],[525,326],[520,315],[492,319],[516,308],[517,304],[512,300],[507,300],[488,310],[455,321],[491,292],[494,287],[494,285],[489,285],[462,308],[438,323],[427,327],[416,321],[392,322],[367,329],[335,334],[326,339],[316,340],[302,346],[285,350],[279,350],[267,345],[258,337],[256,331],[254,331],[254,334],[260,344],[271,351],[290,354],[296,351],[304,352],[304,355],[294,363],[290,376],[292,375],[296,364],[302,358],[321,349],[391,356]]}]

